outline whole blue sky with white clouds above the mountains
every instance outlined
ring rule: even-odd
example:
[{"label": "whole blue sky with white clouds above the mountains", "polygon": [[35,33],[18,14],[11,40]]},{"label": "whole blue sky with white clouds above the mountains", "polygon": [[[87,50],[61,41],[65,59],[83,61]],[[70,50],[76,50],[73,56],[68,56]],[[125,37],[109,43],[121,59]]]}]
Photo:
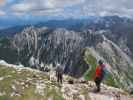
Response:
[{"label": "whole blue sky with white clouds above the mountains", "polygon": [[133,0],[0,0],[0,17],[133,17]]}]

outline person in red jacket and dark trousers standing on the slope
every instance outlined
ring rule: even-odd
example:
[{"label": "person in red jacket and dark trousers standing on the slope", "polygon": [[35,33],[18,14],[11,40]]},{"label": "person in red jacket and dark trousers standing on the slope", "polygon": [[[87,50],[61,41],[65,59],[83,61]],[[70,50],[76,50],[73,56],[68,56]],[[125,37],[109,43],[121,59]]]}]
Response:
[{"label": "person in red jacket and dark trousers standing on the slope", "polygon": [[94,77],[94,81],[97,87],[95,92],[100,92],[100,85],[105,77],[104,69],[105,65],[103,64],[103,61],[99,60],[98,65],[96,66],[95,77]]}]

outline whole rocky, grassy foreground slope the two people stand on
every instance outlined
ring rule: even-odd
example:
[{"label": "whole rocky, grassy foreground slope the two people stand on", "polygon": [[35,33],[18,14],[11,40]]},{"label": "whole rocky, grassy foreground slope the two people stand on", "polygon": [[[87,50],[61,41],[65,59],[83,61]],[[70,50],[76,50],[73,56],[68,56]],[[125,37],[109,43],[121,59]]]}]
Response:
[{"label": "whole rocky, grassy foreground slope the two people stand on", "polygon": [[[0,61],[0,98],[2,100],[132,100],[133,97],[121,89],[102,84],[102,91],[94,93],[94,82],[64,75],[63,84],[56,77],[38,70],[16,66]],[[2,73],[4,72],[4,73]],[[69,84],[69,80],[73,84]]]}]

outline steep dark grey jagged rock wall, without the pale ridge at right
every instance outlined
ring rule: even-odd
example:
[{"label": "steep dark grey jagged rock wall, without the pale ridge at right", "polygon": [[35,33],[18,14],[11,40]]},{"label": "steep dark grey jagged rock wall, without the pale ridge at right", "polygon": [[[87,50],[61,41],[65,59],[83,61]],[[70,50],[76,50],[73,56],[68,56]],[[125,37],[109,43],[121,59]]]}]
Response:
[{"label": "steep dark grey jagged rock wall, without the pale ridge at right", "polygon": [[18,52],[19,62],[26,66],[40,69],[40,63],[53,66],[60,63],[65,72],[77,72],[73,75],[81,76],[89,68],[87,64],[83,71],[76,68],[79,64],[85,63],[82,49],[86,46],[95,46],[102,40],[102,36],[89,31],[29,27],[16,34],[12,44]]}]

